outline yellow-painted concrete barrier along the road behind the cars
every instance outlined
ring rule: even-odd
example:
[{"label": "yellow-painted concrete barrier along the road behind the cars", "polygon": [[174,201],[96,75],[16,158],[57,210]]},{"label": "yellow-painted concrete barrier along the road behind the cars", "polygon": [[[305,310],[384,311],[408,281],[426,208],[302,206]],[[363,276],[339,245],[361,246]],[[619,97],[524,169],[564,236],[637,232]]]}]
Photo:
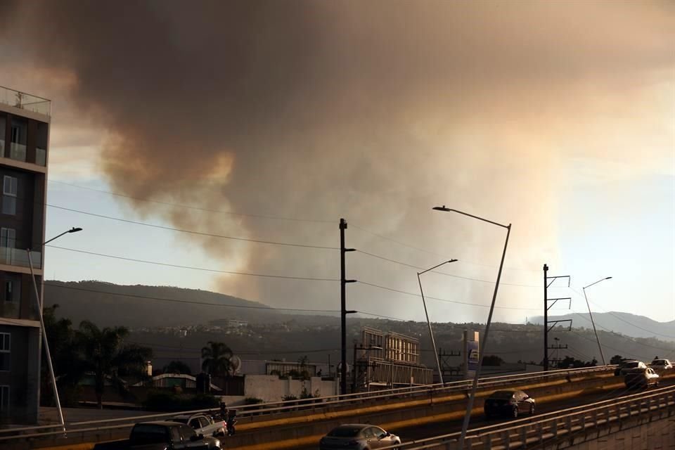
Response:
[{"label": "yellow-painted concrete barrier along the road behind the cars", "polygon": [[[664,378],[675,378],[675,374]],[[559,378],[546,383],[514,384],[508,387],[491,387],[477,391],[475,408],[472,414],[482,413],[483,401],[494,390],[518,389],[532,395],[537,403],[548,403],[572,397],[580,397],[602,390],[623,388],[623,378],[610,373],[589,373]],[[237,434],[222,439],[226,449],[238,450],[268,450],[293,449],[297,446],[311,445],[328,431],[345,422],[373,423],[387,429],[404,428],[428,423],[437,423],[449,420],[458,420],[464,416],[468,392],[451,392],[449,394],[423,395],[415,399],[386,399],[380,404],[368,406],[335,405],[323,407],[320,411],[292,411],[283,414],[281,418],[265,416],[250,416],[240,420]],[[129,426],[129,429],[131,427]],[[128,430],[110,430],[95,436],[69,439],[73,444],[52,446],[53,449],[94,449],[94,442],[101,442],[96,450],[113,450],[117,447],[112,439],[124,439]],[[89,442],[84,442],[87,439]],[[94,442],[92,442],[94,441]],[[81,445],[75,447],[75,445]],[[36,446],[8,446],[11,450],[23,450]],[[105,447],[105,448],[104,448]]]}]

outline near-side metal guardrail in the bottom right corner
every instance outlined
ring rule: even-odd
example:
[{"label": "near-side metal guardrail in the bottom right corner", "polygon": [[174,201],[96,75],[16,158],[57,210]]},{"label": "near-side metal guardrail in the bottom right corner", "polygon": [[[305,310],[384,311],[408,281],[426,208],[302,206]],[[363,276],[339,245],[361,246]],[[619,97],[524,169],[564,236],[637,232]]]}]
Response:
[{"label": "near-side metal guardrail in the bottom right corner", "polygon": [[[668,410],[671,411],[668,411]],[[465,449],[511,449],[539,444],[557,437],[598,428],[601,425],[615,423],[653,411],[675,413],[675,386],[663,387],[651,394],[641,392],[619,399],[598,401],[584,406],[563,409],[553,413],[541,414],[536,418],[514,420],[512,426],[505,423],[469,430],[464,441]],[[393,450],[459,450],[458,439],[461,432],[404,442],[383,449]]]}]

